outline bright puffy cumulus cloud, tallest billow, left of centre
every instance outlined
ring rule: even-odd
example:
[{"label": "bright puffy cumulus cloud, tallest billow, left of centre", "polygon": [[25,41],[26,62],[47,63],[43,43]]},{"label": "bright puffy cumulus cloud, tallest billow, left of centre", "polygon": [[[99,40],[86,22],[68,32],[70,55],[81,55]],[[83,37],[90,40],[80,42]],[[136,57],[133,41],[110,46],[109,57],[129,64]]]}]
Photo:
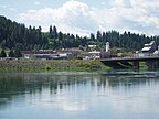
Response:
[{"label": "bright puffy cumulus cloud, tallest billow, left of centre", "polygon": [[57,9],[29,10],[26,13],[21,13],[18,21],[28,24],[36,22],[46,30],[49,30],[50,24],[53,24],[61,31],[86,35],[97,29],[97,24],[89,12],[87,4],[68,1]]}]

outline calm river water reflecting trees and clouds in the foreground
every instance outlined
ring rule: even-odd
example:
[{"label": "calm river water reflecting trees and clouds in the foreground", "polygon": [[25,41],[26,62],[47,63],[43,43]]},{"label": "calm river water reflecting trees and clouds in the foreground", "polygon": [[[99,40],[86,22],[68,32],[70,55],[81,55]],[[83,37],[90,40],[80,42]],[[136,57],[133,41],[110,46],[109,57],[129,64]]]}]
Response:
[{"label": "calm river water reflecting trees and clouds in the foreground", "polygon": [[2,72],[0,119],[159,119],[159,72]]}]

